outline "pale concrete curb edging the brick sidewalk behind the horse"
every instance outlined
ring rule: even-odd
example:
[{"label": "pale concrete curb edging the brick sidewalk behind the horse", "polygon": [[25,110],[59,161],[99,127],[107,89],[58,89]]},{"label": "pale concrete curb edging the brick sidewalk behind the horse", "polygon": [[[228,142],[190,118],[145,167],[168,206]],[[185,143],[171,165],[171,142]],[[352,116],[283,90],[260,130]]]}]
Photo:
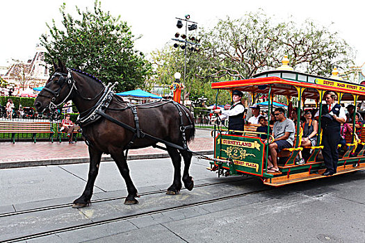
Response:
[{"label": "pale concrete curb edging the brick sidewalk behind the horse", "polygon": [[[200,155],[212,155],[213,151],[196,151]],[[148,160],[157,158],[170,158],[168,153],[152,153],[152,154],[137,154],[127,157],[127,160]],[[102,157],[101,162],[113,161],[110,156]],[[24,167],[35,167],[35,166],[47,166],[47,165],[72,165],[88,163],[89,158],[59,158],[52,160],[21,160],[21,161],[11,161],[11,162],[1,162],[0,169],[13,169],[13,168],[24,168]]]}]

